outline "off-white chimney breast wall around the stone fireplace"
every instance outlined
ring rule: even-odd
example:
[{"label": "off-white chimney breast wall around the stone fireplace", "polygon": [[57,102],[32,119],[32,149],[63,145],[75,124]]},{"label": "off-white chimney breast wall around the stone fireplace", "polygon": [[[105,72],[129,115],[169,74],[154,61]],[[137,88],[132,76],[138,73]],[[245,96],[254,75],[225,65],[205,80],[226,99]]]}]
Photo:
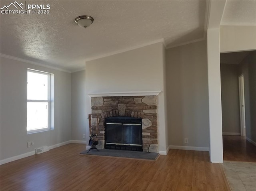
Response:
[{"label": "off-white chimney breast wall around the stone fireplace", "polygon": [[[162,91],[158,96],[158,146],[166,152],[162,42],[86,62],[86,113],[92,93]],[[87,138],[88,138],[88,124]]]}]

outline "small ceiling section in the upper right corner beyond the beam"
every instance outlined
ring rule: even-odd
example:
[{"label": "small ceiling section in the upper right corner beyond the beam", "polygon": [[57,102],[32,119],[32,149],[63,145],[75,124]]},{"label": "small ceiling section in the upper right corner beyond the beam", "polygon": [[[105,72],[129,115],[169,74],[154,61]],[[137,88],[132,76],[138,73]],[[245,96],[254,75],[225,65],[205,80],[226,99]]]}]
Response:
[{"label": "small ceiling section in the upper right corner beyond the beam", "polygon": [[228,0],[221,25],[256,25],[256,0]]}]

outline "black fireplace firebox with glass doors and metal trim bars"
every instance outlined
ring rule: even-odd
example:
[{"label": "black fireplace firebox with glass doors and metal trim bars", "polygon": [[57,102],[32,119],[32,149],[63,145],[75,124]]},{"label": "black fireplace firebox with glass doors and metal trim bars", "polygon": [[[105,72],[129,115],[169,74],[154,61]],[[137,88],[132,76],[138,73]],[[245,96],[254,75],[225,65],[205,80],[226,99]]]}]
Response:
[{"label": "black fireplace firebox with glass doors and metal trim bars", "polygon": [[105,148],[142,151],[142,118],[105,118]]}]

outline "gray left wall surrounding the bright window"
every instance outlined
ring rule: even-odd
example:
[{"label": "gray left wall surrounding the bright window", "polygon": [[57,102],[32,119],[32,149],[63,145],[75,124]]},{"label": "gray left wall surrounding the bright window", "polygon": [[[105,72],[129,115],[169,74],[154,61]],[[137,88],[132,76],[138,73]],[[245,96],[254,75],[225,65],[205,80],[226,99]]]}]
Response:
[{"label": "gray left wall surrounding the bright window", "polygon": [[[54,74],[54,130],[27,134],[27,68]],[[1,160],[71,139],[71,75],[1,57]],[[34,146],[27,148],[27,142]]]}]

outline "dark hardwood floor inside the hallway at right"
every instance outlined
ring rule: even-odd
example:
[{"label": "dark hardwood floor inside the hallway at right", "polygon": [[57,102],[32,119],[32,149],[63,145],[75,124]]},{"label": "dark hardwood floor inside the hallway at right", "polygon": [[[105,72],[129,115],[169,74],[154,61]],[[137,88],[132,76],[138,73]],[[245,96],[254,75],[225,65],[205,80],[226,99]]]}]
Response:
[{"label": "dark hardwood floor inside the hallway at right", "polygon": [[248,142],[244,136],[223,135],[223,159],[256,162],[256,146]]}]

